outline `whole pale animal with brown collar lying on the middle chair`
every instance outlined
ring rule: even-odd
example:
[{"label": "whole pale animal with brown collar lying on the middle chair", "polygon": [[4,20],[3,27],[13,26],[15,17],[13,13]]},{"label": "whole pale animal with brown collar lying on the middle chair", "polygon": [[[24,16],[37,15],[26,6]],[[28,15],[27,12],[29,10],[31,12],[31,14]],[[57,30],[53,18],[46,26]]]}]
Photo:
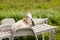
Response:
[{"label": "whole pale animal with brown collar lying on the middle chair", "polygon": [[32,15],[27,14],[24,19],[19,20],[18,22],[13,24],[11,28],[12,30],[16,31],[20,28],[30,27],[32,26],[32,24],[33,24]]}]

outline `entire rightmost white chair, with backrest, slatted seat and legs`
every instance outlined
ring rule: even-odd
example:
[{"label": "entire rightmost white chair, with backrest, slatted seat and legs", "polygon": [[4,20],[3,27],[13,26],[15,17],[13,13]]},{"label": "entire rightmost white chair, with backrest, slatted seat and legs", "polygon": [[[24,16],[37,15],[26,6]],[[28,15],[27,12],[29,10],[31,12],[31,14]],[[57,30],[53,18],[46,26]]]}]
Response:
[{"label": "entire rightmost white chair, with backrest, slatted seat and legs", "polygon": [[34,30],[36,36],[41,33],[42,39],[44,40],[44,32],[49,31],[50,32],[49,40],[52,40],[53,30],[56,27],[47,24],[48,18],[45,19],[33,18],[33,21],[35,23],[35,26],[32,27],[32,29]]}]

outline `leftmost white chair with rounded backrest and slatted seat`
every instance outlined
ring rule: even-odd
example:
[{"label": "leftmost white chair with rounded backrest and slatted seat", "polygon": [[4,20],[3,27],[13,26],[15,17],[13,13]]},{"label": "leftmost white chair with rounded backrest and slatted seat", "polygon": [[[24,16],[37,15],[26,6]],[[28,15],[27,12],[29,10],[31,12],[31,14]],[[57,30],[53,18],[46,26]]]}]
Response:
[{"label": "leftmost white chair with rounded backrest and slatted seat", "polygon": [[0,40],[2,40],[3,38],[9,38],[9,40],[11,40],[11,32],[9,31],[9,29],[11,28],[11,25],[15,23],[15,20],[13,18],[7,18],[7,19],[3,19],[1,21],[1,25],[0,25]]}]

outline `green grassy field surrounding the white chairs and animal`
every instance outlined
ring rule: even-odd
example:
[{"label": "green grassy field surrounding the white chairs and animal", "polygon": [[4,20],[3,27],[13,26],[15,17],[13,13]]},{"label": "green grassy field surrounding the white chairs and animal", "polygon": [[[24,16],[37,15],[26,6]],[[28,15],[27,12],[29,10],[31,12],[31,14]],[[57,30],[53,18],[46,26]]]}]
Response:
[{"label": "green grassy field surrounding the white chairs and animal", "polygon": [[[57,26],[53,40],[60,40],[60,0],[0,0],[0,21],[14,18],[18,21],[30,11],[33,17],[48,18],[48,24]],[[49,33],[45,33],[48,40]],[[41,35],[38,35],[42,40]],[[32,36],[15,37],[15,40],[35,40]]]}]

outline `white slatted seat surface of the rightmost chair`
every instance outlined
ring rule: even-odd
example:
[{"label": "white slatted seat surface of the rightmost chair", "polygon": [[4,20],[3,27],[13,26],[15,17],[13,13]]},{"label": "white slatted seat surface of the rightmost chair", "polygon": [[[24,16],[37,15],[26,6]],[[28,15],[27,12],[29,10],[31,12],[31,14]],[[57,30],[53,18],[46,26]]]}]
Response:
[{"label": "white slatted seat surface of the rightmost chair", "polygon": [[32,27],[32,29],[34,30],[35,33],[42,32],[45,30],[54,29],[54,28],[55,27],[50,26],[48,24],[40,24],[40,25],[36,25],[36,26]]}]

